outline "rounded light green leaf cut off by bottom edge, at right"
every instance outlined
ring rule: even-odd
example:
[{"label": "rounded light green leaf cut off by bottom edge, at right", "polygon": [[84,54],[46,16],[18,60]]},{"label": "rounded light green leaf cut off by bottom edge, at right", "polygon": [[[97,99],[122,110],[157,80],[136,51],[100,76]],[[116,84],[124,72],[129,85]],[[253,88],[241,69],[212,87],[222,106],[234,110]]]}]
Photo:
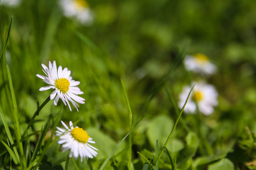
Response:
[{"label": "rounded light green leaf cut off by bottom edge, at right", "polygon": [[209,165],[208,170],[234,170],[234,164],[227,158],[220,159],[218,162]]}]

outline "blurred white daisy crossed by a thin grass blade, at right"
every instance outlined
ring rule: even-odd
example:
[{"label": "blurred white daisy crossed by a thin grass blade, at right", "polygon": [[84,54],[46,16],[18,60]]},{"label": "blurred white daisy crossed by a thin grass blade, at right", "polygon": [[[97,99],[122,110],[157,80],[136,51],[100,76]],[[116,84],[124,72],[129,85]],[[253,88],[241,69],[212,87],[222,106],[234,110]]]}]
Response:
[{"label": "blurred white daisy crossed by a thin grass blade, at right", "polygon": [[[180,108],[183,107],[190,90],[191,87],[189,86],[183,88],[183,91],[179,96],[180,101],[178,106]],[[203,113],[204,115],[212,114],[214,112],[213,107],[218,105],[217,97],[218,93],[213,85],[197,83],[191,91],[190,98],[188,98],[188,103],[184,108],[184,112],[194,114],[197,103],[199,112]]]}]

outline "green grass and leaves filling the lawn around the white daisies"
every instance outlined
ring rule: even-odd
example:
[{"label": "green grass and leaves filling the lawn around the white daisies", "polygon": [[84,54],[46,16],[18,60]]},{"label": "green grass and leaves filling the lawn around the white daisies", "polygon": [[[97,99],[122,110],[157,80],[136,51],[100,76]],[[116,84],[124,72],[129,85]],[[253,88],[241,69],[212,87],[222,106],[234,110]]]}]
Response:
[{"label": "green grass and leaves filling the lawn around the white daisies", "polygon": [[[2,169],[255,168],[255,2],[88,3],[90,27],[63,16],[57,1],[0,2]],[[187,71],[183,60],[194,53],[209,56],[217,72]],[[46,84],[36,74],[53,60],[81,82],[79,112],[39,91]],[[211,115],[179,108],[195,80],[219,93]],[[60,120],[86,130],[97,157],[61,152]]]}]

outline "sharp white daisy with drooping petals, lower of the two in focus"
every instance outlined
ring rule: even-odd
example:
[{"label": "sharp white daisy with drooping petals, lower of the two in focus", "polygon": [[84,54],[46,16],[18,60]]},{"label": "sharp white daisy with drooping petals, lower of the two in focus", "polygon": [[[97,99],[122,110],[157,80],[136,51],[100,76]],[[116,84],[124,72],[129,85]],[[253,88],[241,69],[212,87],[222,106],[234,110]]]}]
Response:
[{"label": "sharp white daisy with drooping petals, lower of the two in focus", "polygon": [[60,136],[58,144],[62,144],[63,152],[70,149],[68,156],[74,156],[75,159],[80,156],[81,162],[86,157],[93,158],[97,156],[98,153],[96,151],[98,151],[98,149],[89,144],[95,142],[92,141],[92,138],[90,138],[83,128],[74,128],[71,121],[69,122],[70,128],[64,122],[61,121],[61,123],[65,128],[56,127],[56,136]]}]

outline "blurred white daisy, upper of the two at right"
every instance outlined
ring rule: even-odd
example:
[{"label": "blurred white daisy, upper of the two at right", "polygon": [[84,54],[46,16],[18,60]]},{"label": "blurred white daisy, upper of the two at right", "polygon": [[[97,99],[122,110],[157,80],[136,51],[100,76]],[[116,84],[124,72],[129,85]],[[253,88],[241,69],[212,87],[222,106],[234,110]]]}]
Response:
[{"label": "blurred white daisy, upper of the two at right", "polygon": [[206,75],[214,74],[217,70],[216,66],[209,61],[209,58],[201,53],[186,56],[184,64],[188,71]]}]

